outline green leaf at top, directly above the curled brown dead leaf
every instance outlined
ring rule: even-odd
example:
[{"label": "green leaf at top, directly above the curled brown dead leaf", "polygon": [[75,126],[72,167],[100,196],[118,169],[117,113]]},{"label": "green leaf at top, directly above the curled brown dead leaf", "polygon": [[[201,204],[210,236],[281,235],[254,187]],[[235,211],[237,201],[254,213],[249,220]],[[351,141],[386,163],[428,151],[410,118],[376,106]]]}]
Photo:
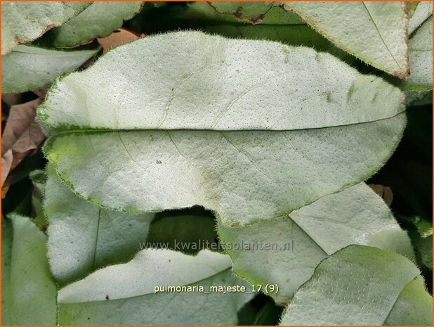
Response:
[{"label": "green leaf at top, directly above the curled brown dead leaf", "polygon": [[86,44],[96,37],[105,37],[133,18],[142,2],[96,1],[60,27],[49,30],[39,41],[46,46],[70,48]]}]

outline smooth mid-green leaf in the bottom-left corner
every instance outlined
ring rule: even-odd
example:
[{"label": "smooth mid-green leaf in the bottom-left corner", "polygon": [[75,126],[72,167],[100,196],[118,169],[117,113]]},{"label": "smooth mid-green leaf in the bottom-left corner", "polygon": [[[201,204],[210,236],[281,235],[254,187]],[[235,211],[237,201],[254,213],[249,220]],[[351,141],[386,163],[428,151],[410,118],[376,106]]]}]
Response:
[{"label": "smooth mid-green leaf in the bottom-left corner", "polygon": [[55,325],[56,286],[46,236],[27,217],[1,222],[1,324]]}]

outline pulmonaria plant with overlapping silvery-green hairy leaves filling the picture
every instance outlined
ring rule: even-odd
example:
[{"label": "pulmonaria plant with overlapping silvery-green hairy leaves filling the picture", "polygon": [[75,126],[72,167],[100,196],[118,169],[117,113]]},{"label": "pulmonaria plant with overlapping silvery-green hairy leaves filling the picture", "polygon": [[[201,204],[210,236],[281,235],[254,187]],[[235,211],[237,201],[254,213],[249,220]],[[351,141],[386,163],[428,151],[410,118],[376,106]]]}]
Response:
[{"label": "pulmonaria plant with overlapping silvery-green hairy leaves filling the picture", "polygon": [[[432,89],[432,5],[167,6],[4,4],[4,92],[53,84],[48,227],[2,224],[3,323],[230,325],[265,293],[283,325],[431,324],[419,252],[364,181]],[[98,57],[123,24],[146,35]]]}]

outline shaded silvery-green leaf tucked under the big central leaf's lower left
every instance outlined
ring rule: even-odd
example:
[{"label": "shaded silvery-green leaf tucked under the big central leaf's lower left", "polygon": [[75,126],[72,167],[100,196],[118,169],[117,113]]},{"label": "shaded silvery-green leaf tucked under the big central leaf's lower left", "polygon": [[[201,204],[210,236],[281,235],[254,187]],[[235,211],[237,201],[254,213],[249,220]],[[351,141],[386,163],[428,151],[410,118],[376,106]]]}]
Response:
[{"label": "shaded silvery-green leaf tucked under the big central leaf's lower left", "polygon": [[147,237],[154,214],[107,210],[79,198],[48,165],[44,211],[48,258],[60,283],[131,259]]}]

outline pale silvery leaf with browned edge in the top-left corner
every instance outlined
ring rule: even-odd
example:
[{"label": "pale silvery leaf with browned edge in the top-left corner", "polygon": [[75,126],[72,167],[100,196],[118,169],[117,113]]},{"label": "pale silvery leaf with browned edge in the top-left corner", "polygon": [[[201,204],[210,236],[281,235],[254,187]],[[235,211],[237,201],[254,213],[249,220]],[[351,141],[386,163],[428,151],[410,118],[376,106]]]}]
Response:
[{"label": "pale silvery leaf with browned edge in the top-left corner", "polygon": [[1,6],[1,55],[62,25],[90,4],[90,1],[5,1]]}]

